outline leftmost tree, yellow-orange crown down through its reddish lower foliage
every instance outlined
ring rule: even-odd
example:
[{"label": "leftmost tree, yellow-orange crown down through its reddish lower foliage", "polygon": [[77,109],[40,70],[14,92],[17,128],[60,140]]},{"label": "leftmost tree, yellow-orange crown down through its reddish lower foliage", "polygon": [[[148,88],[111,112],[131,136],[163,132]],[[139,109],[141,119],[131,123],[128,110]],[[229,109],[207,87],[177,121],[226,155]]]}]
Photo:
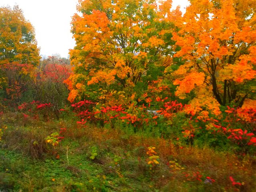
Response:
[{"label": "leftmost tree, yellow-orange crown down through its reddish lower foliage", "polygon": [[39,63],[34,28],[18,6],[0,8],[0,86],[4,97],[18,102],[34,79]]}]

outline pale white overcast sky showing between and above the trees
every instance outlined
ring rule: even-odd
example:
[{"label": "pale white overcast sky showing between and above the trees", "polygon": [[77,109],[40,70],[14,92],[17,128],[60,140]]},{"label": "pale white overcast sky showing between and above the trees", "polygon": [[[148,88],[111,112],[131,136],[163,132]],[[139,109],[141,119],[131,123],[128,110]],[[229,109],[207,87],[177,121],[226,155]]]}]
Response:
[{"label": "pale white overcast sky showing between and above the trees", "polygon": [[[35,28],[40,55],[60,54],[68,57],[75,41],[70,33],[71,16],[78,0],[0,0],[0,6],[17,4]],[[188,0],[173,0],[173,7],[184,8]],[[184,9],[183,9],[184,10]]]}]

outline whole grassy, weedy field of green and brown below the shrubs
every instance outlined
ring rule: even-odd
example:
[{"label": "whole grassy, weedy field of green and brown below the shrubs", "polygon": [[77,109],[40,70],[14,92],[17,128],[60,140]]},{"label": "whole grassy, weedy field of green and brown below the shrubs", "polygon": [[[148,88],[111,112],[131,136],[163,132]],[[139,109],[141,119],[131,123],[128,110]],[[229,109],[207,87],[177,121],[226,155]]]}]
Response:
[{"label": "whole grassy, weedy field of green and brown below the shrubs", "polygon": [[[0,141],[0,190],[256,191],[256,158],[252,154],[238,156],[209,147],[180,146],[142,132],[77,127],[76,121],[68,118],[26,124],[15,116],[3,120],[1,126],[7,128]],[[67,131],[58,146],[45,142],[62,127]],[[148,146],[156,147],[159,164],[148,165]],[[169,161],[178,168],[170,167]],[[207,176],[216,182],[205,183]],[[242,186],[233,186],[230,176]]]}]

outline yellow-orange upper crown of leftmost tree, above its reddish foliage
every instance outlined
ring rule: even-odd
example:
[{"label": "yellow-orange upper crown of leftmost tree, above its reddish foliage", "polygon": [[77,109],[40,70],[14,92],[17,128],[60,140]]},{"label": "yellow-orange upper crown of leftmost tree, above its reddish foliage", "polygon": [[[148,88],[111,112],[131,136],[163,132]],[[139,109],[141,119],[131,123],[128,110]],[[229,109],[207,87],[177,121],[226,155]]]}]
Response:
[{"label": "yellow-orange upper crown of leftmost tree, above its reddish foliage", "polygon": [[37,65],[40,60],[34,28],[18,6],[0,8],[0,64]]}]

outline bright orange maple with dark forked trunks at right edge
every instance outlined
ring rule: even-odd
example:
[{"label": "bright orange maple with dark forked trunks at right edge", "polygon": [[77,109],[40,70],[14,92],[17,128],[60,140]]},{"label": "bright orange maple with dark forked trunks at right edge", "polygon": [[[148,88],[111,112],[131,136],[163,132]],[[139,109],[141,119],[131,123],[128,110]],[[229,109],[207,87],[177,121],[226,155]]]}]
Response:
[{"label": "bright orange maple with dark forked trunks at right edge", "polygon": [[185,61],[175,72],[177,96],[193,91],[223,106],[255,99],[255,11],[256,0],[190,0],[173,34],[174,56]]}]

